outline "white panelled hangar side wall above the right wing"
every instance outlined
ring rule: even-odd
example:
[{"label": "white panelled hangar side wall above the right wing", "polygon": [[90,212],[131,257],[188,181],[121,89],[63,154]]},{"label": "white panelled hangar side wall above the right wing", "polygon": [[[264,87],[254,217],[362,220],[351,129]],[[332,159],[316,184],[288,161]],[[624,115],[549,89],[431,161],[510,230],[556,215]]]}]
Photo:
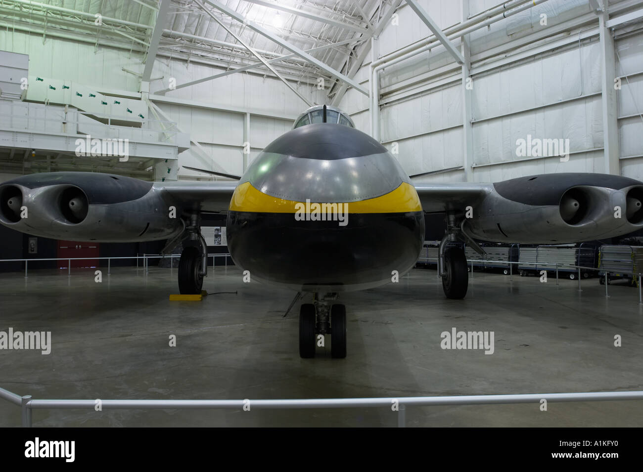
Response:
[{"label": "white panelled hangar side wall above the right wing", "polygon": [[[467,0],[419,0],[442,30],[461,21]],[[470,0],[468,17],[494,0]],[[610,1],[611,17],[637,10],[635,1]],[[612,13],[613,12],[613,13]],[[372,60],[432,35],[408,6],[372,42],[356,74],[368,87]],[[547,25],[540,24],[547,15]],[[466,15],[467,17],[467,15]],[[643,178],[643,32],[638,24],[615,30],[619,117],[619,170]],[[460,49],[461,40],[453,39]],[[471,49],[471,155],[469,180],[494,182],[552,172],[605,172],[602,119],[602,47],[597,14],[583,0],[548,0],[469,35]],[[619,60],[620,58],[620,60]],[[625,76],[628,76],[627,78]],[[466,180],[462,69],[439,45],[379,73],[379,139],[410,175],[433,182]],[[371,133],[367,97],[352,89],[340,107]],[[376,135],[377,135],[377,130]],[[569,159],[516,155],[516,141],[568,139]],[[565,143],[565,141],[563,141]],[[565,159],[565,158],[563,158]]]}]

